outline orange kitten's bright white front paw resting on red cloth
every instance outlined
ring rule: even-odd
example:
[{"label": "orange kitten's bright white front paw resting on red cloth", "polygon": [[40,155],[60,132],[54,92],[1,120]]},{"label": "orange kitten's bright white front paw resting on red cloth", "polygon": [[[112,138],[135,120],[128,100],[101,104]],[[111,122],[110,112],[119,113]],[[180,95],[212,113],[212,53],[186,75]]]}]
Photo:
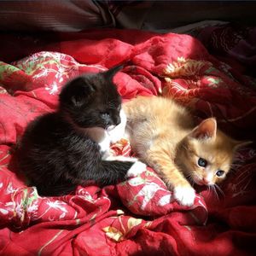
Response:
[{"label": "orange kitten's bright white front paw resting on red cloth", "polygon": [[184,207],[191,207],[195,201],[195,190],[189,187],[176,187],[173,189],[174,198]]}]

